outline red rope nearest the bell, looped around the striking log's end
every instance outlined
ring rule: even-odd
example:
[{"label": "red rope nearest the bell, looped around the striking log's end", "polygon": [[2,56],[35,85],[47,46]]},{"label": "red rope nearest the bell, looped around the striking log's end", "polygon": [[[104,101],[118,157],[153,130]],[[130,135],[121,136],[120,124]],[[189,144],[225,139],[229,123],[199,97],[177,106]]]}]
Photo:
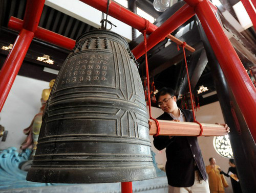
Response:
[{"label": "red rope nearest the bell, looped around the striking log's end", "polygon": [[[145,19],[145,18],[144,18]],[[145,28],[141,30],[141,33],[144,35],[144,47],[145,47],[145,65],[146,65],[146,82],[147,82],[147,101],[148,101],[148,111],[150,112],[150,118],[155,120],[156,125],[157,125],[157,133],[154,135],[155,137],[159,135],[160,132],[160,127],[159,127],[159,122],[157,119],[153,118],[151,115],[151,97],[150,97],[150,75],[148,74],[148,65],[147,65],[147,49],[146,49],[146,31],[148,27],[150,26],[150,21],[145,19]]]}]

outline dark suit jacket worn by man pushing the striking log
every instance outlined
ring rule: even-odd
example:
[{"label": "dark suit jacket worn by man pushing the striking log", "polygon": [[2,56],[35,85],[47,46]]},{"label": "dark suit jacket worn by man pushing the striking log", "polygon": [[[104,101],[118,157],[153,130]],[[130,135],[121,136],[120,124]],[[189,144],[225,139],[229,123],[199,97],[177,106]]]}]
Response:
[{"label": "dark suit jacket worn by man pushing the striking log", "polygon": [[[181,112],[187,122],[193,122],[191,111],[181,109]],[[173,120],[166,112],[157,119]],[[154,137],[154,146],[158,150],[166,148],[165,170],[169,185],[175,187],[192,186],[195,180],[195,162],[199,168],[199,175],[206,181],[205,165],[197,137],[174,136],[170,139],[169,136],[157,136]]]}]

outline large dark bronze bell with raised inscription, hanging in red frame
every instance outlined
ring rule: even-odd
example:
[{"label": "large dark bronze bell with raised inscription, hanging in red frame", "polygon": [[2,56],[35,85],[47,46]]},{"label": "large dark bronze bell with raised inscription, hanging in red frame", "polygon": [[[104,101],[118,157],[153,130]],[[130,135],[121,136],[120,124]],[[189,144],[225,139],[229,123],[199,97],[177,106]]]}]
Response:
[{"label": "large dark bronze bell with raised inscription, hanging in red frame", "polygon": [[81,35],[52,88],[27,180],[105,183],[156,177],[136,60],[124,38]]}]

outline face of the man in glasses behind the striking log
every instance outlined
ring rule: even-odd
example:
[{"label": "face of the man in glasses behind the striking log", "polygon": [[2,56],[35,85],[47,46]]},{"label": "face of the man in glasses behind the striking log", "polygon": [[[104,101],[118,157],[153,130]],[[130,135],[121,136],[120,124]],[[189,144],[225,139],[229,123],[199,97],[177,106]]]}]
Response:
[{"label": "face of the man in glasses behind the striking log", "polygon": [[158,104],[160,104],[160,108],[166,113],[173,113],[178,109],[176,104],[176,96],[172,96],[170,94],[159,96]]}]

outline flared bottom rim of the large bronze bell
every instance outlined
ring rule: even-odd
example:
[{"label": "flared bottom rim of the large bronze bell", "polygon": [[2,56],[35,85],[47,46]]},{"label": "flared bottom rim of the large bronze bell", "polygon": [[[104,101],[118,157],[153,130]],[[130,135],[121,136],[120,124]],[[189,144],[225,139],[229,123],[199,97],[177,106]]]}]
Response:
[{"label": "flared bottom rim of the large bronze bell", "polygon": [[104,170],[104,168],[62,168],[60,172],[59,168],[31,167],[26,180],[41,183],[92,184],[142,181],[157,177],[156,169],[153,165],[139,168],[122,168],[122,173],[120,173],[120,167],[119,169],[118,167],[113,167],[113,169],[114,170],[110,170],[110,168],[108,170]]}]

